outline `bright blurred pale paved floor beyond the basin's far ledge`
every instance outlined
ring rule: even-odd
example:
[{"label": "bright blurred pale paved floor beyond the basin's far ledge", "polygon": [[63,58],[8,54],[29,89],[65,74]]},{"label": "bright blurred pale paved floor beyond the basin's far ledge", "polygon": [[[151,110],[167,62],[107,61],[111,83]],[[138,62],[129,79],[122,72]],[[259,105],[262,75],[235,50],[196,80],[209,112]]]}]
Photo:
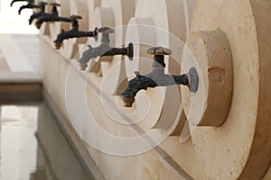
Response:
[{"label": "bright blurred pale paved floor beyond the basin's far ledge", "polygon": [[38,71],[38,30],[28,25],[32,10],[17,11],[22,4],[10,7],[11,0],[0,0],[0,72]]}]

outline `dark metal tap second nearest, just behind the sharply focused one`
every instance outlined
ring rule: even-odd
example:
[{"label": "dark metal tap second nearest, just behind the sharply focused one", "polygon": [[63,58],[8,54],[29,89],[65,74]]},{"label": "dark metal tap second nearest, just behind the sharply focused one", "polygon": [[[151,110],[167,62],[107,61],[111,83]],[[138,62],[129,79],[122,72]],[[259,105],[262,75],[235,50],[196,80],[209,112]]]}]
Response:
[{"label": "dark metal tap second nearest, just behind the sharply focused one", "polygon": [[103,27],[98,29],[99,33],[102,33],[101,44],[98,47],[92,48],[89,45],[89,49],[83,52],[81,58],[79,58],[79,65],[81,70],[85,70],[88,67],[88,62],[91,58],[98,58],[104,56],[124,55],[130,59],[134,56],[133,43],[129,43],[126,48],[112,48],[110,47],[109,34],[115,31],[111,28]]}]

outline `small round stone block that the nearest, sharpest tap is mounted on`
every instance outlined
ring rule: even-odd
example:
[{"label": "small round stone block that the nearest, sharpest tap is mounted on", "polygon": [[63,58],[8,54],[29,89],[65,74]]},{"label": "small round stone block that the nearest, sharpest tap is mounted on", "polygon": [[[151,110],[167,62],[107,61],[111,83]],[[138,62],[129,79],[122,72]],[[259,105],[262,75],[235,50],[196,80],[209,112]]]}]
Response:
[{"label": "small round stone block that the nearest, sharpest tap is mounted on", "polygon": [[[195,72],[199,75],[190,76],[191,92],[182,87],[184,111],[188,121],[195,126],[218,127],[226,120],[231,102],[229,42],[222,31],[198,31],[190,35],[186,47],[182,67],[189,68],[189,75],[195,75]],[[197,79],[199,85],[194,82]]]}]

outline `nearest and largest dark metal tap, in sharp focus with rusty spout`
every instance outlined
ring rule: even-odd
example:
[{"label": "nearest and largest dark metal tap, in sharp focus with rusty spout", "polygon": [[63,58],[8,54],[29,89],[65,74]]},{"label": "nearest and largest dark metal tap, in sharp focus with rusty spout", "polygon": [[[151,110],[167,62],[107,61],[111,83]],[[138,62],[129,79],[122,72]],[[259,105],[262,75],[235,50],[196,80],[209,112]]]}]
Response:
[{"label": "nearest and largest dark metal tap, in sharp focus with rusty spout", "polygon": [[154,88],[156,86],[168,85],[187,85],[191,92],[196,92],[199,85],[199,76],[194,67],[192,67],[187,74],[183,75],[169,75],[164,74],[164,55],[171,55],[170,49],[163,47],[153,47],[147,50],[148,54],[154,55],[153,71],[145,76],[135,72],[135,78],[127,83],[126,89],[121,92],[125,107],[132,107],[135,102],[135,96],[138,91],[148,87]]}]

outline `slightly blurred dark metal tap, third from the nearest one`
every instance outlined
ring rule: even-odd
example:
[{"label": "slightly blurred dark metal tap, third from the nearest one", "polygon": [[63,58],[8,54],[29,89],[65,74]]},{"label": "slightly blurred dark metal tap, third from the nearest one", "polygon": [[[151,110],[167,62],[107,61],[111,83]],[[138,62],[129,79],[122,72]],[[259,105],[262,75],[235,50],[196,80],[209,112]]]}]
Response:
[{"label": "slightly blurred dark metal tap, third from the nearest one", "polygon": [[97,40],[98,29],[95,28],[94,31],[79,31],[79,19],[82,19],[82,17],[79,15],[70,16],[71,29],[70,31],[61,30],[61,33],[58,35],[57,39],[53,41],[56,49],[61,48],[63,40],[68,40],[70,38],[95,37]]}]

